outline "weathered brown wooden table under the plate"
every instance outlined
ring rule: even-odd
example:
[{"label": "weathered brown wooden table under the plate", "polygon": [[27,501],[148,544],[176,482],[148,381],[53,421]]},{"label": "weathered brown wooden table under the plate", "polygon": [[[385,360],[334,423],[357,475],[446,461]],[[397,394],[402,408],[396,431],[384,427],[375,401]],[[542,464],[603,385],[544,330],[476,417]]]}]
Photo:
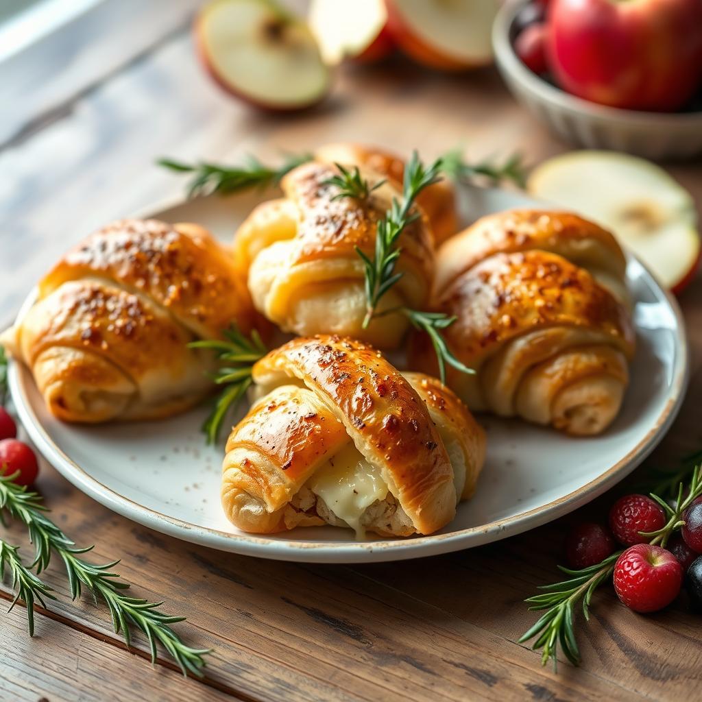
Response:
[{"label": "weathered brown wooden table under the plate", "polygon": [[[48,111],[46,111],[48,110]],[[426,157],[457,143],[479,158],[522,150],[531,162],[565,150],[517,106],[493,70],[448,77],[397,61],[344,69],[335,91],[305,114],[258,114],[203,74],[187,25],[36,114],[0,150],[0,324],[48,265],[93,228],[178,194],[154,166],[168,154],[232,160],[329,140],[379,143]],[[670,168],[702,203],[702,168]],[[687,403],[654,460],[674,464],[702,446],[702,279],[681,298],[692,341]],[[576,459],[574,459],[576,460]],[[702,679],[702,620],[682,604],[637,616],[611,588],[579,627],[583,665],[541,667],[515,643],[534,621],[522,603],[552,581],[571,520],[601,515],[611,494],[523,536],[414,562],[298,565],[224,554],[119,517],[44,465],[39,490],[58,524],[94,557],[121,557],[135,594],[184,614],[178,630],[213,647],[206,678],[184,680],[145,642],[126,650],[104,607],[71,603],[58,566],[46,578],[60,602],[37,615],[1,615],[0,698],[12,700],[636,700],[693,699]],[[11,541],[24,543],[21,530]],[[25,553],[28,550],[25,547]],[[8,583],[0,596],[10,599]]]}]

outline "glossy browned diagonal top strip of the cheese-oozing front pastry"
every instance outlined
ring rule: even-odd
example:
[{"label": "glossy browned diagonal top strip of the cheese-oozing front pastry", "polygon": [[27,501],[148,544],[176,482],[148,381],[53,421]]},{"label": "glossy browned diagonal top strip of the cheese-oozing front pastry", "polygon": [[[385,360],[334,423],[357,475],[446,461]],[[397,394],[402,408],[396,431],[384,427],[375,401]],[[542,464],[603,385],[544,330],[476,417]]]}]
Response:
[{"label": "glossy browned diagonal top strip of the cheese-oozing front pastry", "polygon": [[357,448],[395,484],[420,533],[446,524],[456,505],[449,457],[423,400],[392,364],[363,343],[316,336],[295,339],[253,367],[264,386],[290,377],[336,412]]}]

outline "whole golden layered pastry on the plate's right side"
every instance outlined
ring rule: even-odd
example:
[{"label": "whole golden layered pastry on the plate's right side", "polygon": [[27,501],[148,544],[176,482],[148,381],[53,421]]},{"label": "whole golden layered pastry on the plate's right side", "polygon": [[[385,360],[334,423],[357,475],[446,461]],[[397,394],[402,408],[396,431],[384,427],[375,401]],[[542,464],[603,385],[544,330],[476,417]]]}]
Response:
[{"label": "whole golden layered pastry on the plate's right side", "polygon": [[[635,334],[611,234],[569,213],[511,211],[479,220],[437,253],[433,305],[456,322],[454,355],[477,371],[447,382],[474,411],[574,435],[602,432],[628,384]],[[432,370],[416,336],[411,365]]]}]

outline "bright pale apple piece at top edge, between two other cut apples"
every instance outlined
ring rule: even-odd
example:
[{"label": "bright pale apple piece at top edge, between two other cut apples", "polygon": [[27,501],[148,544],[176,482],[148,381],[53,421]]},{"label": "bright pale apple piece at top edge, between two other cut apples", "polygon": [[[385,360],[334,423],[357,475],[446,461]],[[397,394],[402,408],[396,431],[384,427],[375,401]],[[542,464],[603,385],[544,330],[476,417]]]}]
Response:
[{"label": "bright pale apple piece at top edge, between two other cut apples", "polygon": [[378,61],[394,47],[384,0],[312,0],[307,20],[331,65]]}]

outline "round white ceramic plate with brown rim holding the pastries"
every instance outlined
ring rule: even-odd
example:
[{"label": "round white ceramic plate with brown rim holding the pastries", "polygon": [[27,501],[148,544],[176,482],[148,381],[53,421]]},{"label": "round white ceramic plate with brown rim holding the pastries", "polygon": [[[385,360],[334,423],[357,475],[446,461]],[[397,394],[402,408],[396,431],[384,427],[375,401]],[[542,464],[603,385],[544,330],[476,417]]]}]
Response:
[{"label": "round white ceramic plate with brown rim holding the pastries", "polygon": [[[192,220],[230,241],[262,194],[184,202],[152,212]],[[498,190],[464,188],[465,223],[534,200]],[[627,269],[635,299],[637,355],[620,416],[602,436],[574,439],[522,423],[482,417],[488,453],[475,497],[432,536],[354,540],[350,529],[317,527],[275,536],[234,529],[219,504],[223,446],[205,446],[206,408],[158,422],[96,427],[60,423],[48,414],[29,372],[11,364],[20,419],[46,459],[98,502],[147,527],[224,551],[307,562],[371,562],[470,548],[519,534],[574,510],[622,479],[653,449],[673,421],[687,383],[680,310],[636,260]],[[25,308],[32,304],[32,298]],[[20,312],[20,314],[22,314]]]}]

